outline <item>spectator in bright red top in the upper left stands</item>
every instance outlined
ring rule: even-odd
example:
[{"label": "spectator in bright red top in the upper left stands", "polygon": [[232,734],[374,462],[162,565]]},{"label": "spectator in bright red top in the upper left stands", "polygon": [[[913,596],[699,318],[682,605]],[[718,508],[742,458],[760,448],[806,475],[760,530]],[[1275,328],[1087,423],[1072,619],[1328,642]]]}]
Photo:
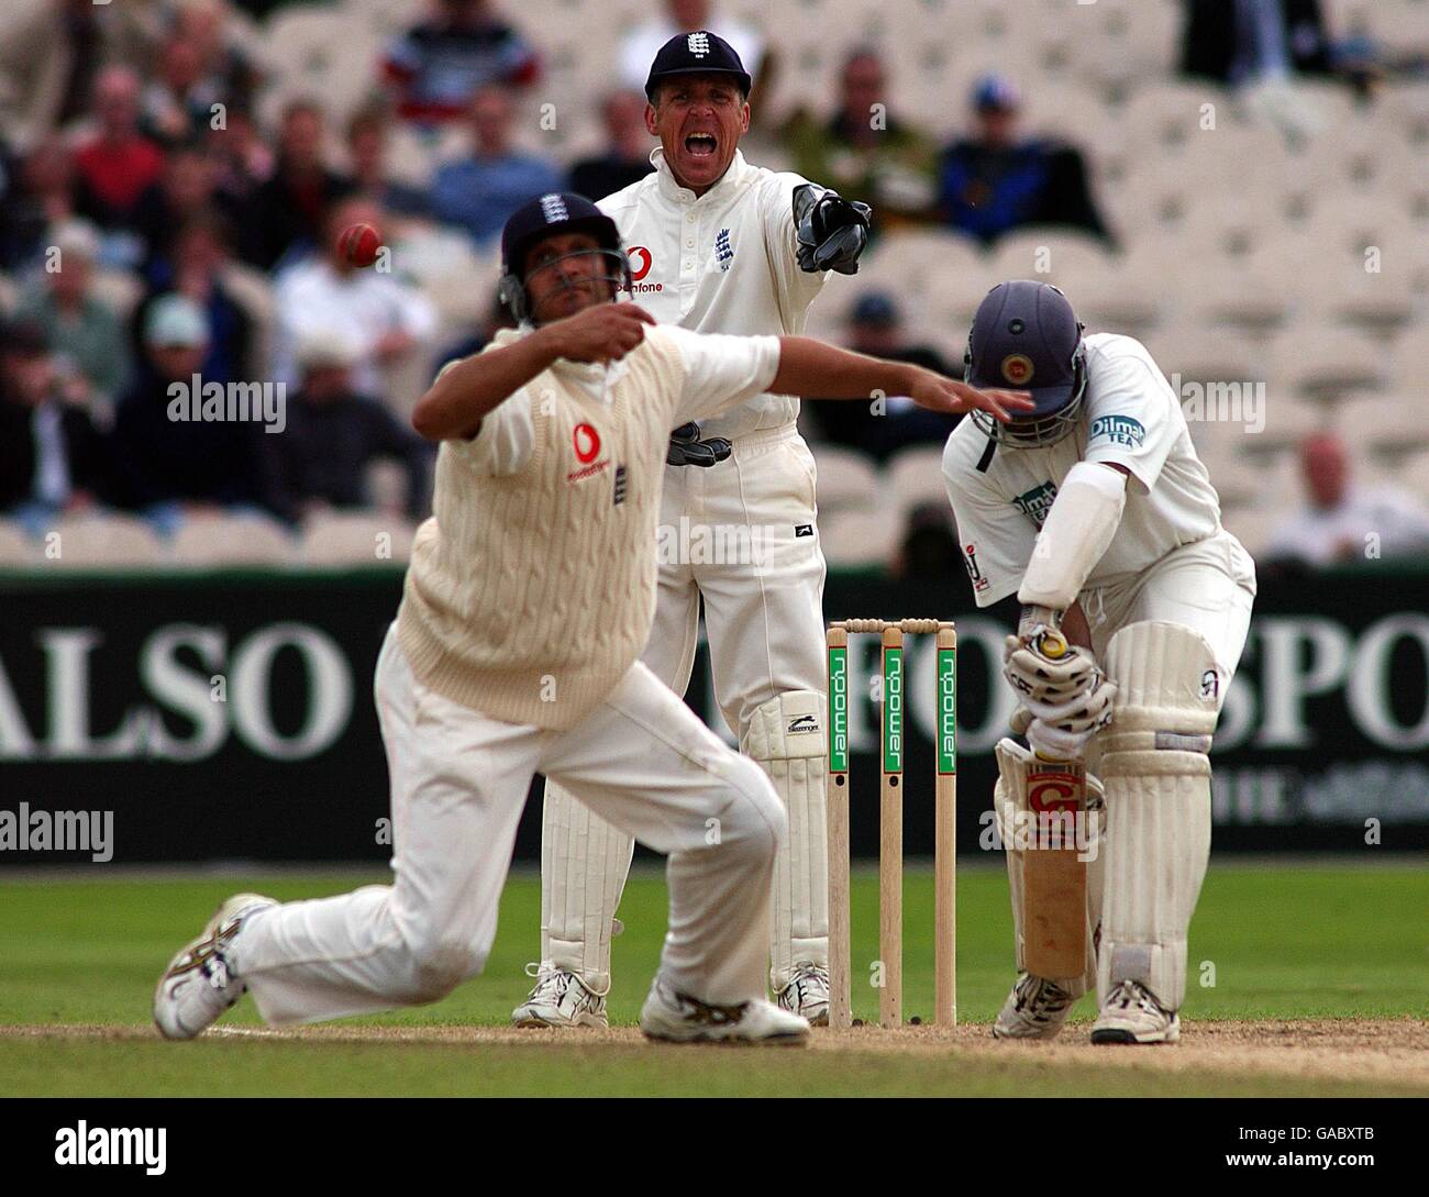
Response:
[{"label": "spectator in bright red top in the upper left stands", "polygon": [[74,157],[76,207],[104,230],[133,229],[140,199],[164,169],[163,150],[139,131],[140,86],[129,67],[99,74],[93,109],[99,133]]}]

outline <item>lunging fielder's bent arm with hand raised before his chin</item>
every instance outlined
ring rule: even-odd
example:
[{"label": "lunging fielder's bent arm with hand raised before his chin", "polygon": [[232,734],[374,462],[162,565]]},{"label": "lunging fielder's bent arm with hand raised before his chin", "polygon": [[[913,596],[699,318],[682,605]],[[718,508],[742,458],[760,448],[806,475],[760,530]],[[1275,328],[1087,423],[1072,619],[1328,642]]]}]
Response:
[{"label": "lunging fielder's bent arm with hand raised before his chin", "polygon": [[470,440],[494,411],[553,361],[614,361],[644,340],[654,317],[633,303],[600,304],[554,320],[502,349],[443,370],[412,413],[427,440]]}]

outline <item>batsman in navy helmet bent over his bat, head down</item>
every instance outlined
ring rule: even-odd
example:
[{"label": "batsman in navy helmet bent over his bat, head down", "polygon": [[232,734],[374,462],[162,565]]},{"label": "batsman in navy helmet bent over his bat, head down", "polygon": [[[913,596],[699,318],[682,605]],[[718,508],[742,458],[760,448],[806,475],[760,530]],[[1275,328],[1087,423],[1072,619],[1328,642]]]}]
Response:
[{"label": "batsman in navy helmet bent over his bat, head down", "polygon": [[[1007,424],[975,414],[943,454],[977,606],[1012,594],[1022,604],[1003,676],[1029,747],[997,744],[995,796],[1019,977],[993,1034],[1052,1038],[1095,986],[1092,1043],[1175,1043],[1210,850],[1206,753],[1250,627],[1255,563],[1220,526],[1180,403],[1146,347],[1083,336],[1056,287],[995,287],[965,377],[1025,387],[1036,404]],[[1085,804],[1063,761],[1085,768]],[[1043,928],[1066,917],[1067,881],[1045,910],[1053,854],[1012,838],[1049,810],[1049,793],[1095,846],[1076,883],[1085,921],[1073,914],[1060,938]]]}]

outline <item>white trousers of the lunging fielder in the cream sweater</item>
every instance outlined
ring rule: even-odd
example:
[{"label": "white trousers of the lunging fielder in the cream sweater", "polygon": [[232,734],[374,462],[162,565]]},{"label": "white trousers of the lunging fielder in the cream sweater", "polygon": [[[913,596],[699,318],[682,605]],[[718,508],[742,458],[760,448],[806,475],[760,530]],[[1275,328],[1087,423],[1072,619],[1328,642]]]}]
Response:
[{"label": "white trousers of the lunging fielder in the cream sweater", "polygon": [[783,804],[649,668],[632,666],[576,727],[542,730],[434,694],[413,677],[393,626],[376,697],[396,881],[286,903],[244,924],[233,963],[264,1020],[436,1001],[480,973],[536,773],[669,854],[660,971],[673,988],[714,1004],[763,997]]}]

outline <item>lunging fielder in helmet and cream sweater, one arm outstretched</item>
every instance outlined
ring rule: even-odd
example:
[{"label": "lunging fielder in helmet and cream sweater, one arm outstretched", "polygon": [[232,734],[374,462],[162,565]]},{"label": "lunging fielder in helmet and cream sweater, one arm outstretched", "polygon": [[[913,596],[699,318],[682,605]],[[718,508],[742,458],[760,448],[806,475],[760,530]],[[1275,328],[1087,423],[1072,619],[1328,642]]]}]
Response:
[{"label": "lunging fielder in helmet and cream sweater, one arm outstretched", "polygon": [[436,1001],[480,973],[537,771],[670,857],[647,1036],[809,1033],[763,996],[783,804],[639,660],[669,430],[772,387],[883,387],[1003,417],[1026,399],[806,337],[656,324],[616,301],[630,286],[619,231],[574,193],[513,213],[502,257],[519,327],[443,367],[412,417],[440,449],[376,673],[394,881],[226,901],[160,977],[154,1023],[170,1038],[203,1033],[246,991],[270,1023],[312,1023]]}]

